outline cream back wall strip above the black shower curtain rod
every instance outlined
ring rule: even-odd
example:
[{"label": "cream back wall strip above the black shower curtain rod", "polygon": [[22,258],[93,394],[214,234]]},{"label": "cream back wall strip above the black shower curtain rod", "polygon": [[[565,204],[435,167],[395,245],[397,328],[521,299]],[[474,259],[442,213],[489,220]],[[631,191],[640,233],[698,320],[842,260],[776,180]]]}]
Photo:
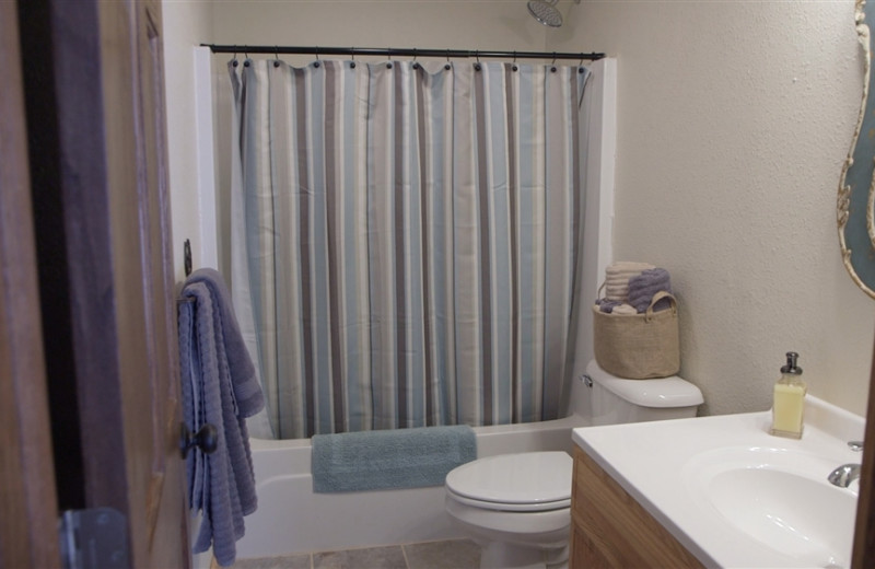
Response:
[{"label": "cream back wall strip above the black shower curtain rod", "polygon": [[546,39],[521,0],[226,0],[214,18],[221,44],[523,51]]}]

